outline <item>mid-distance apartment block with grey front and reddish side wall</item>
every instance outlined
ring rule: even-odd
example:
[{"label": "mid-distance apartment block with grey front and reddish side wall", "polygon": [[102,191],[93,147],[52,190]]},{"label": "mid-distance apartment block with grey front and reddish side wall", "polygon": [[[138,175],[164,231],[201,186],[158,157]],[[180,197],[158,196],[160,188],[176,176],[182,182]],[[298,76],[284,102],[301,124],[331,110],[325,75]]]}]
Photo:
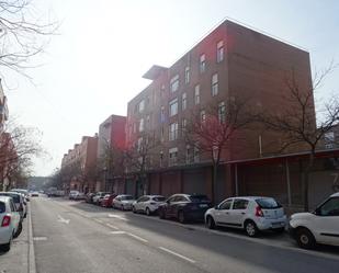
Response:
[{"label": "mid-distance apartment block with grey front and reddish side wall", "polygon": [[[99,126],[98,136],[98,161],[101,162],[102,175],[95,186],[97,191],[123,192],[124,183],[112,164],[112,157],[125,149],[126,141],[126,116],[111,115]],[[111,162],[112,161],[112,162]],[[122,169],[121,167],[117,167]],[[115,169],[115,168],[114,168]],[[122,169],[122,171],[124,171]]]}]

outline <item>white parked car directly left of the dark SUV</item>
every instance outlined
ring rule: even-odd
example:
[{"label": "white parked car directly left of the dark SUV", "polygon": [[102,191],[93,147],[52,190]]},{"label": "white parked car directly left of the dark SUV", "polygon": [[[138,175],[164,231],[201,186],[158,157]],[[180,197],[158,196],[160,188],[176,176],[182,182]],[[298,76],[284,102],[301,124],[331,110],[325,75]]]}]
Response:
[{"label": "white parked car directly left of the dark SUV", "polygon": [[144,195],[133,203],[133,213],[145,213],[151,215],[158,212],[159,205],[165,203],[162,195]]}]

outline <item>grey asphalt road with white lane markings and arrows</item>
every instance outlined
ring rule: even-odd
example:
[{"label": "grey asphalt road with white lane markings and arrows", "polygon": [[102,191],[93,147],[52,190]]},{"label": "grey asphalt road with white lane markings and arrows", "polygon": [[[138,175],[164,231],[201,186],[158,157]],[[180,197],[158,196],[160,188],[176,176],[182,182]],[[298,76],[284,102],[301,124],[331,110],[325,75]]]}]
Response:
[{"label": "grey asphalt road with white lane markings and arrows", "polygon": [[32,198],[31,213],[39,273],[334,273],[339,268],[337,248],[304,251],[284,236],[251,239],[58,198]]}]

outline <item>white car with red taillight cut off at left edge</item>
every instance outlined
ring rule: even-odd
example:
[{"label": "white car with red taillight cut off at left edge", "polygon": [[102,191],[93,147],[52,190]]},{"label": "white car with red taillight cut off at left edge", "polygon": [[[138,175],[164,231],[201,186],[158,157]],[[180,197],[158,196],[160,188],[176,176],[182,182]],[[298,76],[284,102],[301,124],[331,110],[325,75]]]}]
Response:
[{"label": "white car with red taillight cut off at left edge", "polygon": [[0,248],[3,251],[11,249],[13,238],[22,230],[20,214],[16,212],[12,197],[0,196]]}]

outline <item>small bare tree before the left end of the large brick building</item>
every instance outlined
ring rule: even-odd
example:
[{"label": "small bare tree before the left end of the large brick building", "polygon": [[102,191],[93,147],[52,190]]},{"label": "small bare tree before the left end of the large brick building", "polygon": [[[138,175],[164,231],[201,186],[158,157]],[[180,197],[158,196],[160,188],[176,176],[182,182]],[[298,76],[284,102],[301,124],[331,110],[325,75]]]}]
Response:
[{"label": "small bare tree before the left end of the large brick building", "polygon": [[126,166],[128,172],[136,173],[143,187],[143,194],[147,193],[147,170],[151,166],[154,150],[159,143],[154,132],[147,132],[139,135],[135,145],[125,150]]}]

